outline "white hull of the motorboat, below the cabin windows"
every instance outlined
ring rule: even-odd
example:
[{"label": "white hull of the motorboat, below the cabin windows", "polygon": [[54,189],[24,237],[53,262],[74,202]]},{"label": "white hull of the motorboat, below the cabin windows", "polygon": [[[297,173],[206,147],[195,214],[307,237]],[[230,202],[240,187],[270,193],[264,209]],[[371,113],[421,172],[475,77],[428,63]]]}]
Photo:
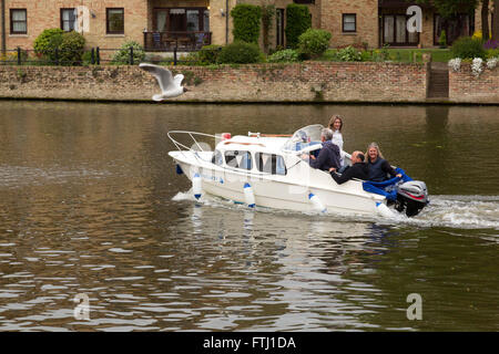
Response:
[{"label": "white hull of the motorboat, below the cabin windows", "polygon": [[338,186],[327,173],[308,166],[306,170],[312,171],[307,176],[304,169],[298,168],[288,170],[286,176],[255,174],[218,167],[207,162],[210,154],[204,154],[204,158],[191,152],[171,152],[170,156],[191,180],[196,174],[201,176],[203,192],[235,202],[246,204],[244,186],[248,184],[256,207],[322,211],[310,201],[312,194],[327,209],[327,214],[379,216],[378,206],[386,204],[385,197],[366,192],[361,181],[350,180]]}]

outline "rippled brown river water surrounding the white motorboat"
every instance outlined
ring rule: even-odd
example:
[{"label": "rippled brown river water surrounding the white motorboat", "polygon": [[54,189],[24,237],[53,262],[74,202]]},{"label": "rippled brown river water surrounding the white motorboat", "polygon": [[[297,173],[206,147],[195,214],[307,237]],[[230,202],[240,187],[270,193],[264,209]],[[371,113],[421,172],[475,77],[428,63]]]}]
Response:
[{"label": "rippled brown river water surrounding the white motorboat", "polygon": [[[498,111],[0,102],[0,331],[498,331]],[[167,156],[171,129],[285,134],[333,113],[347,150],[377,142],[430,206],[196,204]]]}]

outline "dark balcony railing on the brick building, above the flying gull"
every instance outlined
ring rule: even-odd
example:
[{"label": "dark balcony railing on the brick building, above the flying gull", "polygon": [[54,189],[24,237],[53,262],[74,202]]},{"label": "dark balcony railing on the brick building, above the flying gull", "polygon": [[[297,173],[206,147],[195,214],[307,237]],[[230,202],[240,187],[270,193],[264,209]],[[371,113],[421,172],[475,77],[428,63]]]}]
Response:
[{"label": "dark balcony railing on the brick building, above the flying gull", "polygon": [[144,49],[147,52],[197,51],[212,44],[212,32],[144,32]]}]

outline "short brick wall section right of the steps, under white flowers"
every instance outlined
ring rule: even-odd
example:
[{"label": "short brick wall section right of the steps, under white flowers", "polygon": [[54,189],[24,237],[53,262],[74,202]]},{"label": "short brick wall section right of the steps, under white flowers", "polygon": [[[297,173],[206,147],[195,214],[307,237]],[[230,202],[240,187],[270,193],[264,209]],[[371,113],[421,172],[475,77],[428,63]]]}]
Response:
[{"label": "short brick wall section right of the steps, under white flowers", "polygon": [[458,72],[449,70],[449,100],[460,103],[499,104],[499,67],[485,69],[479,77],[469,64],[462,64]]}]

